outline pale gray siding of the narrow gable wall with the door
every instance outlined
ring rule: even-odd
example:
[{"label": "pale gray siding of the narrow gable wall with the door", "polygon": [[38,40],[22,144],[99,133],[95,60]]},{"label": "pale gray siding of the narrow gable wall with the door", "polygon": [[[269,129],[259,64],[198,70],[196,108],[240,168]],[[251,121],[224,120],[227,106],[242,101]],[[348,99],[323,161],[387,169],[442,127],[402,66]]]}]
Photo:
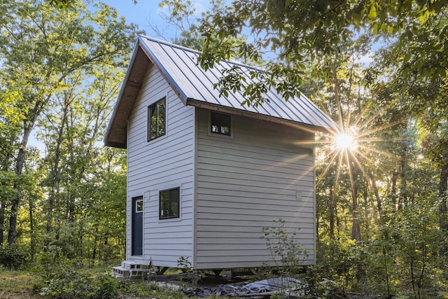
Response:
[{"label": "pale gray siding of the narrow gable wall with the door", "polygon": [[[167,97],[167,132],[147,141],[148,106]],[[127,259],[176,267],[193,257],[193,167],[195,109],[185,106],[153,66],[134,105],[127,136]],[[159,191],[181,188],[181,217],[158,217]],[[144,195],[144,255],[130,256],[132,197]]]}]

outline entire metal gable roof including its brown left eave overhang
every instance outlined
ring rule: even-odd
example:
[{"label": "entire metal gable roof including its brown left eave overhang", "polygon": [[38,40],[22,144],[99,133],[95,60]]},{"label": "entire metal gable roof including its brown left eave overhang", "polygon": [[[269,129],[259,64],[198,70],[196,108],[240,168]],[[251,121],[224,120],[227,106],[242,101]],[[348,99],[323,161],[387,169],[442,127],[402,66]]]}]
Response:
[{"label": "entire metal gable roof including its brown left eave overhang", "polygon": [[[143,50],[143,51],[142,51]],[[221,61],[214,68],[204,71],[198,64],[199,52],[166,41],[160,41],[148,36],[139,36],[130,67],[123,87],[118,96],[118,102],[113,111],[104,143],[106,146],[126,147],[126,125],[139,88],[142,74],[148,63],[155,64],[172,85],[181,100],[192,106],[204,106],[209,109],[232,111],[253,118],[262,118],[280,123],[295,123],[308,127],[312,131],[339,131],[338,125],[304,95],[290,97],[286,102],[276,90],[269,90],[262,105],[242,106],[245,98],[241,92],[228,92],[228,96],[219,95],[214,88],[223,77],[223,70],[237,65],[242,74],[246,74],[246,82],[253,82],[251,70],[263,71],[237,62]],[[118,136],[119,135],[119,136]]]}]

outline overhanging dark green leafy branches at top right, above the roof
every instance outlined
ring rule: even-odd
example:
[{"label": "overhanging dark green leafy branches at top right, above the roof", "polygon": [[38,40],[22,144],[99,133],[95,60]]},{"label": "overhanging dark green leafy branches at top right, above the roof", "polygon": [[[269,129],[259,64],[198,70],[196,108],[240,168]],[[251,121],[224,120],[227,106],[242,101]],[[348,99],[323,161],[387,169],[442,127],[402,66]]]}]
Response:
[{"label": "overhanging dark green leafy branches at top right, above the roof", "polygon": [[[262,87],[241,86],[232,77],[223,77],[216,85],[221,94],[225,94],[223,90],[235,88],[240,92],[251,90],[246,96],[256,106],[264,102],[266,88],[285,97],[298,95],[302,90],[297,85],[309,81],[304,72],[309,64],[325,61],[329,55],[348,54],[346,43],[364,32],[371,35],[370,41],[380,38],[393,41],[389,47],[393,58],[389,57],[386,63],[379,60],[377,74],[384,74],[385,64],[392,65],[403,92],[413,89],[405,90],[404,85],[409,86],[407,83],[415,78],[422,79],[426,86],[430,79],[434,83],[430,85],[445,86],[446,91],[448,53],[446,39],[442,37],[448,30],[445,4],[444,0],[431,3],[409,0],[387,5],[381,1],[316,3],[311,0],[238,0],[228,6],[218,4],[204,15],[199,26],[204,44],[199,63],[204,69],[223,59],[262,64],[267,79],[274,79],[263,81]],[[241,39],[246,32],[250,32],[251,39]],[[281,71],[279,65],[291,71]],[[331,78],[313,66],[309,71],[311,80],[316,76]],[[282,85],[283,81],[288,84]],[[428,91],[424,87],[419,90]]]}]

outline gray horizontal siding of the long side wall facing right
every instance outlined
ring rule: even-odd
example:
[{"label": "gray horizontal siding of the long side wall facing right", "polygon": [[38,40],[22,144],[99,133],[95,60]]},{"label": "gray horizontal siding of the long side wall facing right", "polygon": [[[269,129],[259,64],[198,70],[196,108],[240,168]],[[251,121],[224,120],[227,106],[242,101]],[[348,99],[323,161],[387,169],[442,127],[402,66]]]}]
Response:
[{"label": "gray horizontal siding of the long side wall facing right", "polygon": [[282,218],[315,262],[313,139],[275,123],[232,116],[232,138],[210,134],[197,110],[195,267],[259,267],[271,260],[262,228]]}]

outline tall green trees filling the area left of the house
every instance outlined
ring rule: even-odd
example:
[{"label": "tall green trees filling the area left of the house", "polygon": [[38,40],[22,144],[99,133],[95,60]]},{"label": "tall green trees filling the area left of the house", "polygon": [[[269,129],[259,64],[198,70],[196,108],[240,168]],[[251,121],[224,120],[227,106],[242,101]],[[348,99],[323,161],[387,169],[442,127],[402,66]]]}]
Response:
[{"label": "tall green trees filling the area left of the house", "polygon": [[[134,25],[101,3],[3,1],[0,27],[0,241],[8,228],[32,253],[122,258],[125,153],[99,143]],[[27,146],[33,129],[41,153]]]}]

